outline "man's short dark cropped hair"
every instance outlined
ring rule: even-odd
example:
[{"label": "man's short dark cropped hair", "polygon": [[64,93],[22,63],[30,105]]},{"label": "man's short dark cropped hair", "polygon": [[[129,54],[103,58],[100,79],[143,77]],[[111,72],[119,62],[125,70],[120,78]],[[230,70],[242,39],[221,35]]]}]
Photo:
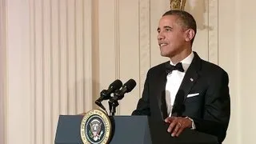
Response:
[{"label": "man's short dark cropped hair", "polygon": [[[195,37],[195,34],[197,34],[197,23],[195,22],[194,17],[190,13],[183,10],[169,10],[162,16],[166,16],[166,15],[177,16],[178,19],[182,21],[183,26],[186,26],[186,28],[188,29],[194,30],[194,37]],[[194,38],[192,38],[191,44],[193,42],[194,42]]]}]

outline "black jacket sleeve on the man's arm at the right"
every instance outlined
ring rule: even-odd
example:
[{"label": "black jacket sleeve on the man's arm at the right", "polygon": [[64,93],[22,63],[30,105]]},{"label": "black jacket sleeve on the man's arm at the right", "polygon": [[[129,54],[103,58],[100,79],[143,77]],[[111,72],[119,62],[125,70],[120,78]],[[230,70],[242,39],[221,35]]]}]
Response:
[{"label": "black jacket sleeve on the man's arm at the right", "polygon": [[196,130],[213,134],[222,142],[230,121],[229,78],[226,71],[222,70],[222,73],[211,79],[212,82],[209,82],[209,88],[206,90],[203,118],[192,119]]}]

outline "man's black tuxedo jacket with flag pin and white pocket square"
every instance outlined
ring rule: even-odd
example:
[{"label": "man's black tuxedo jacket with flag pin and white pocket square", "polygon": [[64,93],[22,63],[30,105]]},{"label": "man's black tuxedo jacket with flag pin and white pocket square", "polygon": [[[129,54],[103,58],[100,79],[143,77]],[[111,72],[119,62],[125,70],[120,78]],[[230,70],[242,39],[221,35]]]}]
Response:
[{"label": "man's black tuxedo jacket with flag pin and white pocket square", "polygon": [[[166,64],[169,63],[164,62],[148,71],[142,98],[138,101],[134,115],[148,115],[162,120],[167,117],[165,86]],[[194,52],[194,59],[176,95],[172,114],[180,113],[184,117],[192,118],[196,130],[213,134],[222,142],[230,120],[228,83],[225,70],[202,60]],[[195,96],[188,98],[189,94]],[[178,99],[182,99],[182,102],[178,102]],[[182,109],[177,109],[177,103],[182,105]]]}]

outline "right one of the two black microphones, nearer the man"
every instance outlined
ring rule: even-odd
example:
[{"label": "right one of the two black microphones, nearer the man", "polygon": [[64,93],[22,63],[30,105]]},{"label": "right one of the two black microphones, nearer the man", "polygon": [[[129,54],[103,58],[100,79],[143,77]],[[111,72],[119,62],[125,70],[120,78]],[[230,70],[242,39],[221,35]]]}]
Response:
[{"label": "right one of the two black microphones, nearer the man", "polygon": [[120,100],[124,97],[124,94],[129,93],[136,86],[134,79],[127,81],[121,88],[121,90],[114,91],[114,97],[110,98],[110,102]]}]

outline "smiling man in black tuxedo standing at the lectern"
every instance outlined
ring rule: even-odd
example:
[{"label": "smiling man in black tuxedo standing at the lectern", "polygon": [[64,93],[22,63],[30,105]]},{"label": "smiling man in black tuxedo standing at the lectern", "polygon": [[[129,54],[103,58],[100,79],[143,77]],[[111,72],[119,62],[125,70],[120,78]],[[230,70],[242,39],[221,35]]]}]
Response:
[{"label": "smiling man in black tuxedo standing at the lectern", "polygon": [[178,137],[186,128],[213,134],[222,142],[230,121],[229,78],[225,70],[192,51],[197,26],[186,11],[170,10],[158,25],[158,45],[170,58],[152,67],[133,115],[170,123]]}]

